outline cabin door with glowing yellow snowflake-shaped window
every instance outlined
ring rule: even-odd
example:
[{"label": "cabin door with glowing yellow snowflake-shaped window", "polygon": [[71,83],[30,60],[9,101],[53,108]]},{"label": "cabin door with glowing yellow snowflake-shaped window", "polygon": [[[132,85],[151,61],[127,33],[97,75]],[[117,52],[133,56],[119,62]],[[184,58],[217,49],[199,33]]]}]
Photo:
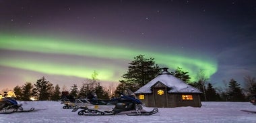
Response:
[{"label": "cabin door with glowing yellow snowflake-shaped window", "polygon": [[166,88],[154,88],[154,102],[158,108],[164,108],[167,102]]}]

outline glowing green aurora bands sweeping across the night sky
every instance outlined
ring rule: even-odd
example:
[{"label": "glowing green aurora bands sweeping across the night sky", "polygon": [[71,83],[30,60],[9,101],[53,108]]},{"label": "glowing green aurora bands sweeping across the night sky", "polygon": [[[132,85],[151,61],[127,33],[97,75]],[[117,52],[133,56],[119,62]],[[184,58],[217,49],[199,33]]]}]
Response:
[{"label": "glowing green aurora bands sweeping across the night sky", "polygon": [[[95,43],[89,43],[95,42]],[[8,51],[24,51],[28,53],[43,53],[51,55],[76,55],[79,57],[95,57],[99,59],[111,59],[113,61],[122,59],[127,64],[133,60],[133,57],[139,54],[145,57],[152,57],[156,64],[162,67],[168,67],[176,70],[179,66],[185,72],[189,72],[191,81],[195,80],[195,76],[199,70],[204,70],[205,76],[210,78],[218,68],[217,62],[210,57],[203,59],[195,54],[193,57],[185,55],[153,52],[143,49],[129,49],[129,47],[120,45],[103,45],[96,41],[88,41],[86,39],[69,39],[55,37],[36,37],[30,35],[1,35],[0,49]],[[115,66],[115,64],[106,64],[101,61],[97,66],[79,66],[79,64],[65,64],[56,61],[26,59],[26,57],[1,57],[0,66],[9,68],[17,68],[21,70],[30,70],[32,72],[40,72],[43,74],[75,76],[78,78],[91,78],[94,70],[98,73],[98,79],[108,82],[118,82],[121,75],[127,71],[127,66]],[[119,73],[117,76],[116,73]]]}]

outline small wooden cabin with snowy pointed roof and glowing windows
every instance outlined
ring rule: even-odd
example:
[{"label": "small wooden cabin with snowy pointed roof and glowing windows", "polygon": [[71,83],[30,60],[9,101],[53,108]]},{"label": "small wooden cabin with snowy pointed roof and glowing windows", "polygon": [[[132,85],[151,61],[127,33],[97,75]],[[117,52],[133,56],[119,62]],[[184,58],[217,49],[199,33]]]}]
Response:
[{"label": "small wooden cabin with snowy pointed roof and glowing windows", "polygon": [[164,68],[162,74],[142,86],[135,95],[147,107],[201,107],[201,92],[176,78]]}]

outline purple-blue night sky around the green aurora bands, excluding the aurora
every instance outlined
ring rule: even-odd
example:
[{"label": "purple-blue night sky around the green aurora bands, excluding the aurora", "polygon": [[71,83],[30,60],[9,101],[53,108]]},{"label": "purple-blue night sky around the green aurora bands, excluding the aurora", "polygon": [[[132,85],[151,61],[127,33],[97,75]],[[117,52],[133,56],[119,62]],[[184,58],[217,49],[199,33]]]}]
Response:
[{"label": "purple-blue night sky around the green aurora bands, excluding the aurora", "polygon": [[[256,1],[253,0],[0,0],[0,37],[1,35],[65,35],[75,37],[74,40],[90,39],[90,43],[94,44],[210,59],[218,65],[217,72],[210,76],[210,82],[215,86],[221,85],[224,80],[228,82],[231,78],[243,84],[244,76],[255,77],[256,72]],[[133,56],[135,55],[138,54]],[[127,70],[127,63],[133,58],[127,60],[49,55],[0,48],[0,59],[16,56],[38,60],[39,57],[44,57],[49,62],[63,59],[63,62],[69,64],[80,64],[78,60],[81,64],[83,60],[88,63],[102,61],[106,66],[113,64],[123,68],[123,73],[114,72],[119,80]],[[175,68],[176,66],[172,69]],[[186,71],[186,68],[183,70]],[[10,73],[15,73],[15,76]],[[0,90],[22,86],[27,81],[24,76],[29,75],[34,76],[34,82],[46,76],[54,84],[60,84],[61,81],[68,87],[73,84],[70,81],[81,83],[85,80],[0,64],[0,83],[3,85]]]}]

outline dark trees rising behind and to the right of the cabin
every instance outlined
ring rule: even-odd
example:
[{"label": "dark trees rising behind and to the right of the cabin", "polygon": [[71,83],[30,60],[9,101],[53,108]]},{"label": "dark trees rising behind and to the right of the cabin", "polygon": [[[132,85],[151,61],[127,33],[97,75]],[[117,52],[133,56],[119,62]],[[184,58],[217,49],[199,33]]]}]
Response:
[{"label": "dark trees rising behind and to the right of the cabin", "polygon": [[[123,74],[123,80],[120,80],[116,92],[121,92],[124,88],[129,88],[133,92],[150,82],[153,78],[160,74],[161,68],[155,63],[154,58],[145,58],[144,55],[137,55],[134,60],[129,63],[128,71]],[[255,78],[245,77],[245,88],[234,79],[230,79],[228,84],[225,83],[224,88],[214,88],[206,78],[204,71],[199,70],[195,82],[190,82],[189,72],[185,72],[182,68],[177,68],[174,72],[170,72],[173,76],[183,80],[187,84],[197,88],[202,92],[202,101],[237,101],[247,102],[249,96],[256,94]]]}]

